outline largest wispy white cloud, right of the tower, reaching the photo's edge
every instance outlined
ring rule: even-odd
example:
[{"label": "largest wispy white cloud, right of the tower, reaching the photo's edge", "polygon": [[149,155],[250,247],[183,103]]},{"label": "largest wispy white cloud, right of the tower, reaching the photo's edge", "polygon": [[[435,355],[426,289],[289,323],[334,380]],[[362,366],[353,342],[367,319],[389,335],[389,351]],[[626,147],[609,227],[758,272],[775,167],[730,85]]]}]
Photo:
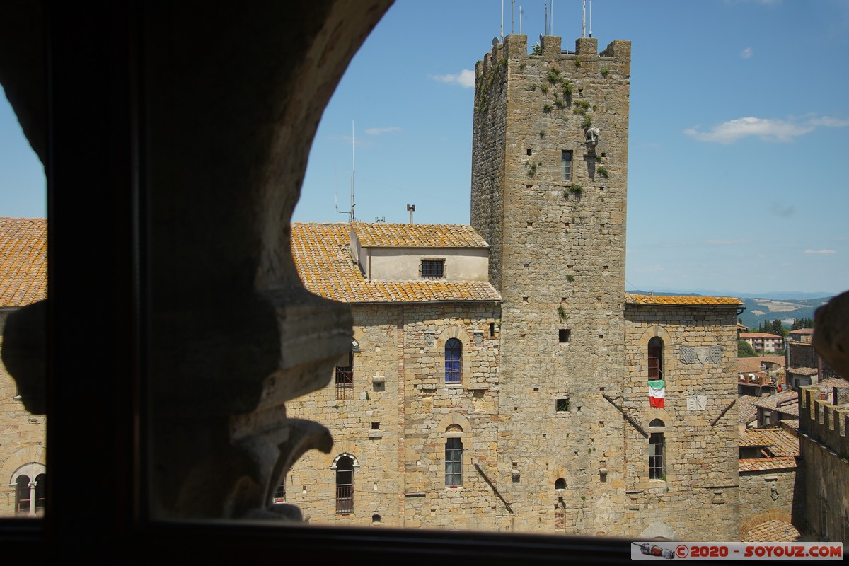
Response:
[{"label": "largest wispy white cloud, right of the tower, reaching the photo's edge", "polygon": [[812,132],[818,126],[844,127],[849,120],[821,116],[807,120],[771,120],[769,118],[737,118],[713,126],[709,132],[700,132],[700,126],[694,126],[684,133],[700,142],[734,143],[744,137],[760,137],[764,142],[791,142],[794,137]]}]

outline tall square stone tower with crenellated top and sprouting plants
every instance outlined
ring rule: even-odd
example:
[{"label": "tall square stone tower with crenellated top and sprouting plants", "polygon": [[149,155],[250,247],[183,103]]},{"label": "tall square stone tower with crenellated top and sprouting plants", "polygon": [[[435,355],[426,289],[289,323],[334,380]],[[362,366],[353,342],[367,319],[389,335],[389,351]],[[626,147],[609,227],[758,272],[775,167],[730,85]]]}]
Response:
[{"label": "tall square stone tower with crenellated top and sprouting plants", "polygon": [[[615,535],[624,492],[631,43],[510,35],[475,68],[471,223],[501,293],[499,489],[516,530]],[[617,471],[619,470],[619,471]]]}]

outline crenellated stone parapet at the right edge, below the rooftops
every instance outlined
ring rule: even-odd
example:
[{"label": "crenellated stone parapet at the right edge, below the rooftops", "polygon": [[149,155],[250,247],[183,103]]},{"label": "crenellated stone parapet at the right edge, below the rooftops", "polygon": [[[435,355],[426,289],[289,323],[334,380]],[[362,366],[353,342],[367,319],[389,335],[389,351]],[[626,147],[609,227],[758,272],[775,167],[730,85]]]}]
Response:
[{"label": "crenellated stone parapet at the right edge, below the rooftops", "polygon": [[[849,436],[846,434],[849,407],[824,401],[818,385],[801,387],[799,393],[799,432],[828,446],[841,457],[849,457]],[[840,390],[835,392],[837,399],[844,395]]]}]

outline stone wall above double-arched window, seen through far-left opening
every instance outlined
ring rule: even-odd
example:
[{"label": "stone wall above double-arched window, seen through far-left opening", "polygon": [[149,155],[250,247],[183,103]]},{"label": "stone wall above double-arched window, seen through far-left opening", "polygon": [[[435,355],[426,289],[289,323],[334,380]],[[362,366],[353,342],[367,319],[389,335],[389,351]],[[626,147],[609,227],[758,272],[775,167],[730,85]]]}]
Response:
[{"label": "stone wall above double-arched window, seen through far-left opening", "polygon": [[[5,326],[8,312],[0,311],[0,328]],[[0,516],[4,517],[15,514],[14,486],[10,485],[15,472],[32,463],[43,470],[47,462],[47,417],[31,415],[14,400],[15,395],[18,388],[14,378],[0,361]]]}]

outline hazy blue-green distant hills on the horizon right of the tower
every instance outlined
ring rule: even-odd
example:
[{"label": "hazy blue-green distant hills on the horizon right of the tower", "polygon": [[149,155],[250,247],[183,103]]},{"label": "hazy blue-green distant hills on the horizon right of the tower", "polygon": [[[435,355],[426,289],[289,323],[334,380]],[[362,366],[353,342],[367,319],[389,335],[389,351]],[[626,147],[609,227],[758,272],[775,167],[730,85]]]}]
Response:
[{"label": "hazy blue-green distant hills on the horizon right of the tower", "polygon": [[[628,291],[633,294],[649,294],[649,291]],[[676,293],[671,291],[655,291],[655,294],[681,294],[686,296],[723,296],[737,297],[743,301],[745,311],[739,316],[749,328],[757,328],[762,322],[773,321],[776,318],[784,322],[784,326],[790,327],[796,318],[813,318],[813,311],[819,305],[824,305],[833,295],[824,294],[819,296],[812,293],[800,293],[788,291],[786,293],[767,293],[760,296],[751,293]]]}]

